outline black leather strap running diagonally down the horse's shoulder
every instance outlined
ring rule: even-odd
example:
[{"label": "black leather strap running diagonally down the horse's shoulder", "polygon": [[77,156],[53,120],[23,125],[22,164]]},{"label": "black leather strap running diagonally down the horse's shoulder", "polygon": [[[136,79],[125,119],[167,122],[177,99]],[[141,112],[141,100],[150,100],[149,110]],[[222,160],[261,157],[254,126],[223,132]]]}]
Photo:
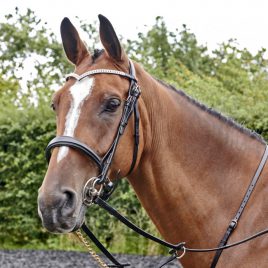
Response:
[{"label": "black leather strap running diagonally down the horse's shoulder", "polygon": [[[242,215],[242,213],[244,211],[244,208],[246,207],[246,205],[248,203],[248,200],[249,200],[249,198],[250,198],[250,196],[252,194],[252,191],[254,190],[254,188],[255,188],[255,186],[256,186],[256,184],[258,182],[258,179],[259,179],[260,174],[261,174],[261,172],[262,172],[262,170],[263,170],[263,168],[265,166],[267,158],[268,158],[268,146],[266,145],[265,146],[265,151],[264,151],[262,159],[261,159],[261,162],[260,162],[260,164],[259,164],[259,166],[258,166],[258,168],[257,168],[252,180],[251,180],[251,183],[250,183],[250,185],[249,185],[249,187],[247,189],[247,192],[246,192],[246,194],[245,194],[245,196],[244,196],[244,198],[243,198],[243,200],[241,202],[241,205],[240,205],[237,213],[235,214],[234,218],[230,222],[230,224],[229,224],[229,226],[228,226],[228,228],[227,228],[222,240],[220,241],[218,247],[225,246],[227,241],[228,241],[228,239],[229,239],[229,237],[231,236],[231,234],[235,230],[235,228],[236,228],[236,226],[238,224],[238,221],[239,221],[239,219],[240,219],[240,217],[241,217],[241,215]],[[217,265],[217,263],[219,261],[219,258],[221,256],[222,251],[223,251],[223,249],[220,249],[220,250],[216,251],[216,254],[215,254],[214,258],[213,258],[213,261],[211,263],[210,268],[215,268],[216,267],[216,265]]]}]

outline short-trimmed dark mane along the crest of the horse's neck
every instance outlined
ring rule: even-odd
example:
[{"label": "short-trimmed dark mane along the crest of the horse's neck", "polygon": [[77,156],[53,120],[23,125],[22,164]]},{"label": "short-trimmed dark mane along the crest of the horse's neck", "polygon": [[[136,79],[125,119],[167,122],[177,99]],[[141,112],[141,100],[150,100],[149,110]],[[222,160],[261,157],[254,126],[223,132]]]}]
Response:
[{"label": "short-trimmed dark mane along the crest of the horse's neck", "polygon": [[238,131],[248,135],[249,137],[256,139],[258,141],[260,141],[261,143],[266,143],[265,140],[262,138],[262,136],[260,136],[258,133],[256,133],[253,130],[250,130],[244,126],[242,126],[241,124],[238,124],[237,122],[235,122],[232,118],[227,117],[223,114],[221,114],[220,112],[214,110],[213,108],[209,108],[206,105],[198,102],[197,100],[195,100],[194,98],[188,96],[184,91],[179,90],[177,88],[175,88],[174,86],[167,84],[159,79],[156,79],[161,85],[163,85],[165,88],[170,89],[174,92],[176,92],[177,94],[179,94],[180,96],[182,96],[184,99],[186,99],[188,102],[192,103],[193,105],[195,105],[196,107],[198,107],[199,109],[201,109],[202,111],[205,111],[209,114],[211,114],[212,116],[218,118],[219,120],[221,120],[222,122],[224,122],[225,124],[237,129]]}]

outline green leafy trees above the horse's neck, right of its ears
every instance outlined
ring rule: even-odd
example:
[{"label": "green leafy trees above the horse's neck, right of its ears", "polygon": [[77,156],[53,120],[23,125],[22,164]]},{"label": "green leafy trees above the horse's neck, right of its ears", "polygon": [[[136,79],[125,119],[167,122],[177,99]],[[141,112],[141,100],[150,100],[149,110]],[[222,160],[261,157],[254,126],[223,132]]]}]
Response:
[{"label": "green leafy trees above the horse's neck, right of its ears", "polygon": [[128,40],[127,51],[149,73],[268,138],[265,49],[253,55],[230,39],[209,52],[185,25],[170,32],[157,17],[147,33]]}]

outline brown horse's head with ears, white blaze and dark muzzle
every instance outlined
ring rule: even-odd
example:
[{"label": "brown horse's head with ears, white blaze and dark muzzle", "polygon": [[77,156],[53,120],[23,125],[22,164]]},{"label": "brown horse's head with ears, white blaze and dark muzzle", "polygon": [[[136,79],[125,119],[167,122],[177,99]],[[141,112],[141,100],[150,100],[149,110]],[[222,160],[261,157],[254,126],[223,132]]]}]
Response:
[{"label": "brown horse's head with ears, white blaze and dark muzzle", "polygon": [[[107,160],[107,152],[111,156],[111,149],[116,149],[111,166],[106,163],[111,177],[119,169],[121,176],[126,175],[133,164],[134,116],[117,148],[113,146],[135,79],[124,76],[129,73],[130,63],[111,23],[101,15],[99,19],[100,39],[105,50],[94,55],[90,55],[69,19],[65,18],[61,24],[63,47],[75,71],[55,93],[52,108],[57,117],[57,137],[68,136],[73,140],[68,144],[62,140],[58,144],[52,142],[49,167],[39,190],[39,215],[44,227],[51,232],[71,232],[81,226],[86,207],[83,203],[85,185],[90,178],[104,172],[103,157],[106,155],[104,160]],[[114,73],[105,70],[102,73],[103,69]],[[93,70],[98,73],[90,72]],[[71,146],[71,142],[77,141],[83,143],[83,148],[90,148],[92,155]],[[94,157],[99,158],[100,163],[94,161]],[[94,187],[99,190],[99,186]]]}]

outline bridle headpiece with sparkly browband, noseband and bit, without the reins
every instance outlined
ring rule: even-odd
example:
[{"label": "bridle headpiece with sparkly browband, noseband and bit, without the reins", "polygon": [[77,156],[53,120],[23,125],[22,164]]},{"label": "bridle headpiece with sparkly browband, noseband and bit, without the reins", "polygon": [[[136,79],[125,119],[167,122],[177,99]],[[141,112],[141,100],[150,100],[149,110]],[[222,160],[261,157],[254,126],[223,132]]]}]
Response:
[{"label": "bridle headpiece with sparkly browband, noseband and bit, without the reins", "polygon": [[130,80],[128,97],[124,104],[122,117],[120,119],[115,139],[103,158],[101,158],[93,149],[88,147],[85,143],[70,136],[57,136],[54,139],[52,139],[49,142],[48,146],[46,147],[45,152],[46,152],[46,159],[48,162],[51,158],[51,150],[53,148],[60,146],[68,146],[77,149],[86,156],[88,156],[98,167],[99,176],[90,178],[86,182],[83,189],[83,202],[87,206],[91,205],[94,199],[100,195],[102,195],[102,197],[107,198],[111,194],[114,188],[112,182],[108,179],[107,174],[111,166],[120,137],[124,134],[124,130],[133,112],[134,112],[134,149],[133,149],[132,163],[128,174],[132,172],[136,164],[138,146],[139,146],[139,111],[137,101],[141,94],[141,91],[137,84],[137,79],[135,77],[135,68],[131,61],[129,61],[129,66],[130,66],[129,74],[117,70],[96,69],[85,72],[82,75],[71,73],[67,76],[67,80],[72,77],[75,78],[77,81],[81,81],[85,77],[92,75],[110,74],[110,75],[119,75],[121,77]]}]

